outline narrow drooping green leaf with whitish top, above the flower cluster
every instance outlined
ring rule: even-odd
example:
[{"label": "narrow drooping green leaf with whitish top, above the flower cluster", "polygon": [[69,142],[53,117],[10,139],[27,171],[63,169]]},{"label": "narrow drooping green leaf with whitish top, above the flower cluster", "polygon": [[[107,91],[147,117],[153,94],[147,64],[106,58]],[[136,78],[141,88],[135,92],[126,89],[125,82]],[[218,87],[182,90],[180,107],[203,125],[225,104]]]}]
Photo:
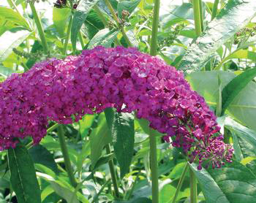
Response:
[{"label": "narrow drooping green leaf with whitish top, above the flower cluster", "polygon": [[83,25],[84,20],[86,20],[87,15],[89,14],[92,7],[97,4],[99,0],[86,1],[82,0],[78,4],[78,8],[75,11],[73,23],[71,27],[71,42],[72,47],[75,50],[76,42],[78,38],[78,32],[80,31],[81,26]]}]

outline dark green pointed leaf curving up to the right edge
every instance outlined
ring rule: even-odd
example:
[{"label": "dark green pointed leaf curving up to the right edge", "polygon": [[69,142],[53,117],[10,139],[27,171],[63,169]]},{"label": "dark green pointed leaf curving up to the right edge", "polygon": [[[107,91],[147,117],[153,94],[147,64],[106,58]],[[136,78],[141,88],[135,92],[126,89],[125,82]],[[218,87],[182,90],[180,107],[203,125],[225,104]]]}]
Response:
[{"label": "dark green pointed leaf curving up to the right edge", "polygon": [[222,90],[222,115],[227,107],[233,102],[238,93],[256,76],[256,68],[249,69],[236,76]]}]

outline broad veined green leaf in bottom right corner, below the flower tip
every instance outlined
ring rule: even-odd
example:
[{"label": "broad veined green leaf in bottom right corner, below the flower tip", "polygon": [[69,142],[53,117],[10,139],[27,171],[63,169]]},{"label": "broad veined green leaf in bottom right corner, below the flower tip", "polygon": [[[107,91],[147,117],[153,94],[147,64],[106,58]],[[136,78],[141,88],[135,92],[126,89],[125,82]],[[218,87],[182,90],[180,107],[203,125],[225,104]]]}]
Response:
[{"label": "broad veined green leaf in bottom right corner, below the flower tip", "polygon": [[234,161],[220,169],[197,170],[190,165],[207,203],[256,202],[256,177],[246,166]]}]

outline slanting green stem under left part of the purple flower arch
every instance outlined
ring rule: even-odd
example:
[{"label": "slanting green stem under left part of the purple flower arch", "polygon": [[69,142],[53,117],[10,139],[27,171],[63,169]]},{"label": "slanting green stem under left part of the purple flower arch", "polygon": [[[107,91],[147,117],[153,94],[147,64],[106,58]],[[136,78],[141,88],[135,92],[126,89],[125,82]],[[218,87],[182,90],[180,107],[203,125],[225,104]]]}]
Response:
[{"label": "slanting green stem under left part of the purple flower arch", "polygon": [[64,158],[65,168],[67,170],[67,175],[69,176],[71,185],[75,188],[78,185],[78,183],[75,180],[75,176],[74,176],[73,169],[71,166],[69,153],[67,151],[67,143],[66,143],[65,136],[64,136],[64,129],[63,129],[62,125],[59,125],[58,137],[59,137],[59,144],[61,145],[61,152],[62,152],[62,155]]}]

